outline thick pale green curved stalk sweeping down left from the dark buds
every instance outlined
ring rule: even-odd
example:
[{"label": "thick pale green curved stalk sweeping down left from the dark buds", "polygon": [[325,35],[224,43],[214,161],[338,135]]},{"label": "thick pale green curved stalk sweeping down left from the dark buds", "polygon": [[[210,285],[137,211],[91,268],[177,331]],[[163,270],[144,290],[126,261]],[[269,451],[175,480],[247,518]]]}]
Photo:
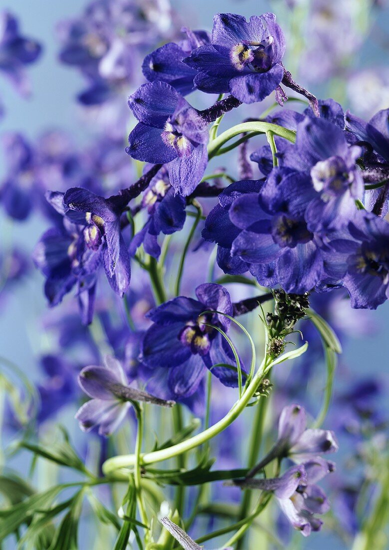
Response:
[{"label": "thick pale green curved stalk sweeping down left from the dark buds", "polygon": [[[181,441],[180,443],[177,443],[172,447],[168,447],[166,449],[159,449],[152,453],[146,453],[142,455],[141,456],[142,464],[146,465],[146,464],[152,464],[155,462],[160,462],[162,460],[168,460],[169,458],[173,458],[174,456],[177,456],[179,454],[186,453],[188,450],[194,449],[199,445],[202,445],[206,441],[209,441],[209,439],[212,439],[213,437],[217,436],[218,433],[225,430],[227,426],[229,426],[232,422],[234,422],[234,420],[246,408],[246,406],[252,399],[254,393],[256,392],[260,382],[262,382],[262,380],[265,378],[265,376],[267,375],[271,367],[283,361],[286,361],[287,359],[294,359],[296,357],[299,357],[304,353],[305,350],[307,350],[307,348],[308,348],[308,344],[305,343],[297,350],[288,351],[287,353],[277,357],[277,359],[274,359],[273,361],[271,361],[268,366],[266,366],[266,361],[269,360],[269,356],[266,355],[258,371],[255,373],[251,383],[243,392],[242,397],[238,399],[234,405],[232,405],[231,410],[227,412],[227,414],[221,420],[219,420],[219,422],[216,422],[213,426],[210,426],[207,430],[204,430],[203,432],[196,434],[196,436],[193,436],[190,439],[185,439],[185,441]],[[109,475],[111,472],[119,470],[120,468],[134,466],[134,464],[135,464],[134,454],[114,456],[113,458],[109,458],[104,462],[103,472],[104,472],[104,475]]]}]

